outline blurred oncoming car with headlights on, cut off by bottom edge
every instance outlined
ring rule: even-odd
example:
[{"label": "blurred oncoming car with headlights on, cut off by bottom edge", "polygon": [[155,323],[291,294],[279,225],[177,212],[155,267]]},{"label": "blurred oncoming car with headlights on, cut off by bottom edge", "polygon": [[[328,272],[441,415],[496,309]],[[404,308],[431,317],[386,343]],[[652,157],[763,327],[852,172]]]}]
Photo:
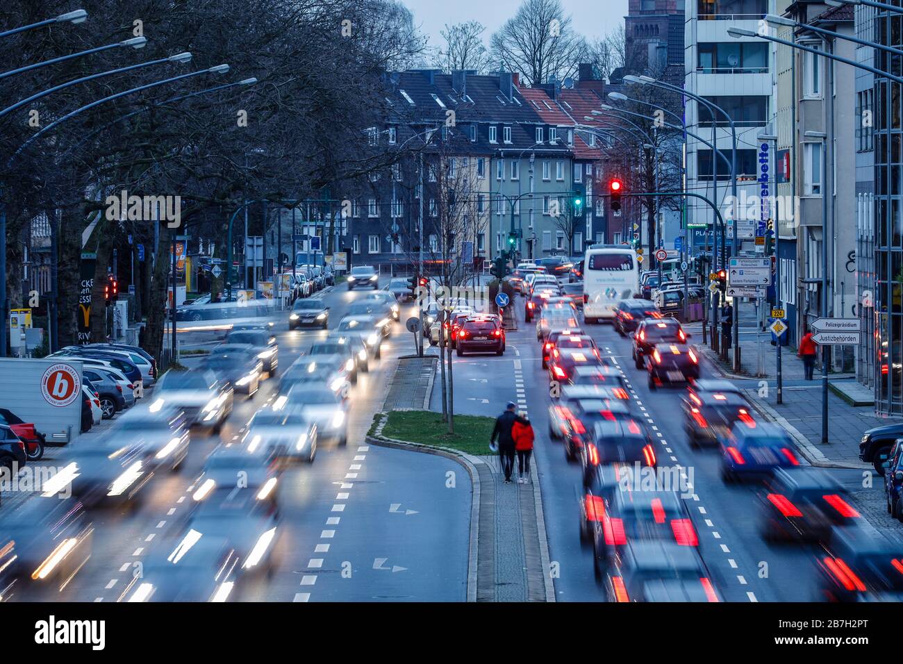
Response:
[{"label": "blurred oncoming car with headlights on, cut off by bottom edge", "polygon": [[148,557],[142,575],[126,587],[126,602],[226,602],[240,569],[229,538],[191,528],[172,551]]}]

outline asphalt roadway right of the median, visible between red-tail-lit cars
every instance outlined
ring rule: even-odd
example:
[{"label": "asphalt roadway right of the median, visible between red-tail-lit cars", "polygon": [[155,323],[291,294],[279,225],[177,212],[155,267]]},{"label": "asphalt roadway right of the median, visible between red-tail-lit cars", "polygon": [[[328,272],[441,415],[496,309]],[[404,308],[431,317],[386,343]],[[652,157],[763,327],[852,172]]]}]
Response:
[{"label": "asphalt roadway right of the median, visible between red-tail-lit cars", "polygon": [[[524,323],[523,298],[517,297],[519,329],[507,333],[507,352],[454,356],[456,411],[497,416],[507,401],[526,409],[537,435],[535,457],[543,495],[545,528],[551,560],[560,575],[554,578],[558,601],[604,601],[592,572],[591,548],[581,547],[578,535],[578,496],[582,491],[579,465],[568,463],[563,444],[550,438],[548,372],[542,369],[535,325]],[[700,553],[713,583],[731,602],[811,602],[815,593],[815,549],[798,545],[769,544],[759,537],[756,488],[727,485],[721,481],[717,454],[712,449],[693,450],[684,434],[679,408],[684,387],[658,388],[650,392],[643,370],[630,359],[630,341],[619,337],[609,324],[584,325],[597,341],[603,358],[622,369],[631,398],[647,418],[660,442],[660,465],[680,465],[692,485],[687,506],[700,536]],[[701,341],[701,340],[694,340]],[[715,376],[703,360],[703,377]],[[521,387],[523,386],[523,387]],[[744,386],[748,387],[748,386]],[[438,389],[433,409],[441,408]],[[861,489],[858,471],[833,471],[851,491]]]}]

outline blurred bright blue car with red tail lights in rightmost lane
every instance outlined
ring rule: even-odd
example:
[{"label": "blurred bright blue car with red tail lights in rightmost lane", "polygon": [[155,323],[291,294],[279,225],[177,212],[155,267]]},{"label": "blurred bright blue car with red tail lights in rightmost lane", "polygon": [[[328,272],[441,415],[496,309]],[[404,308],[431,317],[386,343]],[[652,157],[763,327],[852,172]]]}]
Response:
[{"label": "blurred bright blue car with red tail lights in rightmost lane", "polygon": [[799,465],[790,436],[777,425],[757,422],[749,413],[721,439],[721,479],[737,482],[768,476],[776,468]]}]

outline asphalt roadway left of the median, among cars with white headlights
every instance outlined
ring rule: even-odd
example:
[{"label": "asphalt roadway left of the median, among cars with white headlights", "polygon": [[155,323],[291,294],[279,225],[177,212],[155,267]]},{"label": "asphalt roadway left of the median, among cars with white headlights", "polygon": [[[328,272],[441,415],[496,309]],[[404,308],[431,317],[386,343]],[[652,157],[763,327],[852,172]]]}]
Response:
[{"label": "asphalt roadway left of the median, among cars with white headlights", "polygon": [[[321,295],[330,328],[358,291]],[[325,332],[288,331],[288,313],[275,327],[279,365],[286,369]],[[403,312],[402,320],[405,320]],[[280,478],[280,536],[275,572],[237,585],[234,599],[253,601],[466,600],[470,539],[470,478],[451,460],[369,446],[364,441],[382,406],[396,358],[410,352],[410,334],[396,324],[383,360],[352,388],[347,447],[321,445],[312,465],[294,466]],[[196,366],[200,360],[183,360]],[[191,452],[176,473],[154,477],[133,510],[96,510],[93,554],[57,597],[112,602],[121,598],[154,549],[172,550],[185,523],[192,484],[204,460],[222,442],[237,441],[256,409],[275,398],[275,380],[256,396],[237,397],[220,435],[192,435]],[[77,451],[54,452],[57,459]],[[53,461],[49,463],[60,463]],[[447,472],[455,488],[447,488]],[[35,499],[32,499],[35,500]]]}]

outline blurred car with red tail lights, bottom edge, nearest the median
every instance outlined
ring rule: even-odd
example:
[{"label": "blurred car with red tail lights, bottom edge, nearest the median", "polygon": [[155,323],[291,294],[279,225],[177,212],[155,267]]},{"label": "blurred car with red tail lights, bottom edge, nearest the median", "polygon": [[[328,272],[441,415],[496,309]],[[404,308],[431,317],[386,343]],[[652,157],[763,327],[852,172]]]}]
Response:
[{"label": "blurred car with red tail lights, bottom edge, nearest the median", "polygon": [[661,540],[628,544],[605,589],[613,602],[721,602],[695,547]]}]

